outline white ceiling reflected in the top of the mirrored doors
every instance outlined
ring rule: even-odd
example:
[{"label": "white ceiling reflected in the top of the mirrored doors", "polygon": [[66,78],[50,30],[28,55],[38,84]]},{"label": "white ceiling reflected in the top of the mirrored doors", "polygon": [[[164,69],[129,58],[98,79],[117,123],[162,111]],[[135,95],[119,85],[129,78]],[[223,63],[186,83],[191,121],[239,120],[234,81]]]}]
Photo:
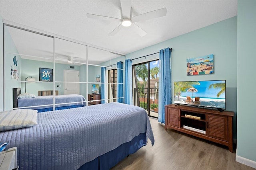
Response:
[{"label": "white ceiling reflected in the top of the mirrored doors", "polygon": [[[60,38],[53,39],[16,27],[7,26],[6,36],[11,36],[11,39],[5,39],[6,44],[12,44],[12,42],[9,42],[11,40],[16,46],[16,48],[6,48],[6,53],[20,55],[22,59],[46,62],[53,62],[53,59],[55,59],[56,63],[82,65],[86,63],[87,59],[89,64],[100,64],[110,61],[110,58],[120,57],[120,55],[109,53],[109,51],[94,47],[86,48],[86,45]],[[53,46],[53,44],[55,45]],[[68,63],[70,60],[72,60],[72,63]],[[111,63],[106,64],[111,65]]]}]

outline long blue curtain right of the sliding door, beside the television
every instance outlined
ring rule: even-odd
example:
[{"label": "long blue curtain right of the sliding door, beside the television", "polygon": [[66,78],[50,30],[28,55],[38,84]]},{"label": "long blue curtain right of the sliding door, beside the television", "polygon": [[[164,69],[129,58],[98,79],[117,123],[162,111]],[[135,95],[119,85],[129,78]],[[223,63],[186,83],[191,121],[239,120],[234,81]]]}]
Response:
[{"label": "long blue curtain right of the sliding door, beside the television", "polygon": [[165,105],[172,103],[171,50],[160,50],[159,54],[159,100],[158,122],[165,124]]}]

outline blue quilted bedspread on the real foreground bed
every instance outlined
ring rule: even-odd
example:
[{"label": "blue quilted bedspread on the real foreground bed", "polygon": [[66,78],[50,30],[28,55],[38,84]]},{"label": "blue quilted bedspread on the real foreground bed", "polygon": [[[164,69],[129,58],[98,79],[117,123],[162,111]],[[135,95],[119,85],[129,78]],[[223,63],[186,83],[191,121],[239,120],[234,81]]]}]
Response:
[{"label": "blue quilted bedspread on the real foreground bed", "polygon": [[154,145],[146,111],[120,103],[38,113],[38,125],[0,133],[17,147],[20,170],[76,170],[145,133]]}]

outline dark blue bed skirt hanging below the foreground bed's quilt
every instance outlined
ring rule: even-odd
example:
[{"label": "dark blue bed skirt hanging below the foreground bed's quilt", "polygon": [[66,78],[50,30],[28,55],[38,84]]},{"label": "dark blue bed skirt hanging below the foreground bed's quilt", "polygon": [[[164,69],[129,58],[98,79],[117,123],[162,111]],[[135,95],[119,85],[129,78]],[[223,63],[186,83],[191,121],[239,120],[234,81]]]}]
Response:
[{"label": "dark blue bed skirt hanging below the foreground bed's quilt", "polygon": [[140,133],[132,141],[123,143],[114,150],[111,150],[94,160],[83,164],[78,170],[109,170],[129,154],[135,153],[145,146],[147,142],[146,132]]}]

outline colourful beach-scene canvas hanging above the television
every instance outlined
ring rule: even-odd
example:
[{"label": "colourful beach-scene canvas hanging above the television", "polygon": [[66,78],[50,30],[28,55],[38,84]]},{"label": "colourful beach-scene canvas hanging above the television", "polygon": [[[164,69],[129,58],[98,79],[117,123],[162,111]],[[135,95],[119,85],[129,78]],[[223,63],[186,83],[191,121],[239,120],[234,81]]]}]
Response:
[{"label": "colourful beach-scene canvas hanging above the television", "polygon": [[213,73],[213,54],[187,59],[187,76]]}]

